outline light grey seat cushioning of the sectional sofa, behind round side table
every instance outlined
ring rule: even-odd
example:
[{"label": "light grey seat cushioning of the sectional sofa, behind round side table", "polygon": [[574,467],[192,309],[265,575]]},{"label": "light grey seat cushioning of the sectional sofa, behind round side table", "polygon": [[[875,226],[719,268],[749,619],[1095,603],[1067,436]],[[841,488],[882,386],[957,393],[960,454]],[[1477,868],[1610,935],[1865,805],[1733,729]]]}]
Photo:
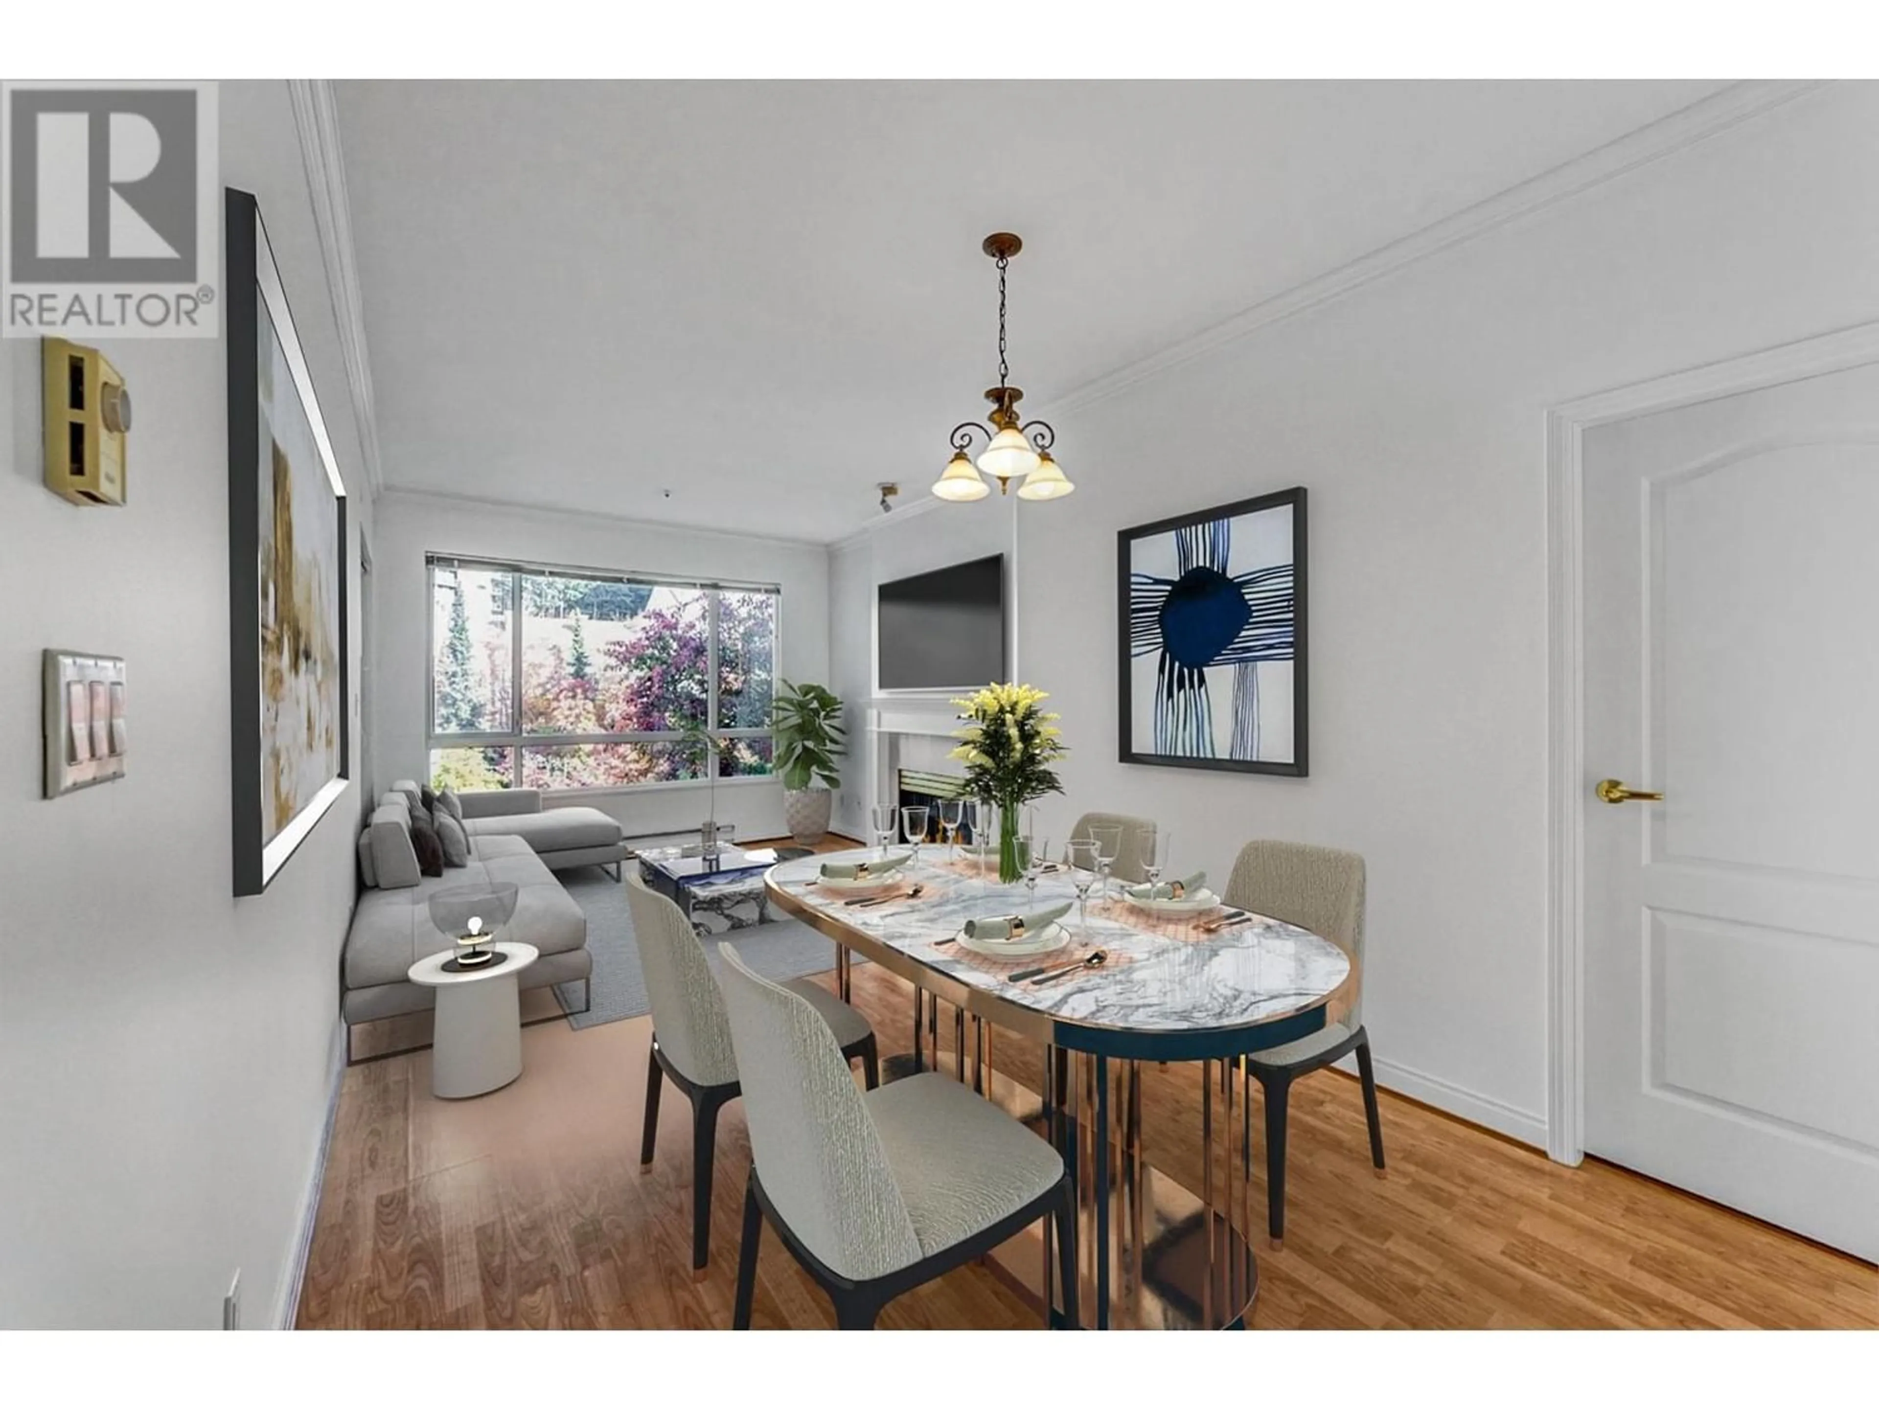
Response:
[{"label": "light grey seat cushioning of the sectional sofa, behind round side table", "polygon": [[543,954],[564,954],[586,945],[586,915],[554,874],[517,838],[489,838],[492,855],[479,855],[464,870],[425,877],[400,890],[366,890],[353,911],[346,939],[346,986],[404,983],[412,964],[449,949],[451,941],[430,922],[430,896],[445,887],[483,881],[515,881],[515,917],[502,939],[534,945]]}]

